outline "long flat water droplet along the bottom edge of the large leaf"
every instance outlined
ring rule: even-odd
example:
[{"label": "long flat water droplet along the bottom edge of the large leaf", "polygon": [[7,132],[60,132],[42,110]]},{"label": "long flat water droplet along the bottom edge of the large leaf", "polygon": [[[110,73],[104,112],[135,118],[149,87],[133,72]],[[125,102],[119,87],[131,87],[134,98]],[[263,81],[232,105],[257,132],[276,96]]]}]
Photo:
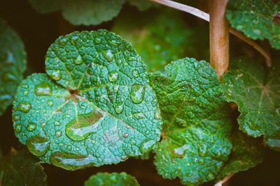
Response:
[{"label": "long flat water droplet along the bottom edge of the large leaf", "polygon": [[97,162],[97,158],[92,155],[83,156],[66,153],[53,153],[50,155],[50,162],[63,169],[75,171],[77,169],[83,169],[87,166],[94,166],[94,162]]}]

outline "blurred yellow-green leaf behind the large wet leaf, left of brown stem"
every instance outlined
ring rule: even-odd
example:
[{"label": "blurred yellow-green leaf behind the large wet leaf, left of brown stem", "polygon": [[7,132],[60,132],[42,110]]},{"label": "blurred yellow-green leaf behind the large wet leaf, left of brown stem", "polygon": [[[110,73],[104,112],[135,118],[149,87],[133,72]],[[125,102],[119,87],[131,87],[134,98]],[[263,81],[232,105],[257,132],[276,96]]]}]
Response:
[{"label": "blurred yellow-green leaf behind the large wet leaf, left of brown stem", "polygon": [[163,71],[167,63],[185,56],[207,56],[209,47],[204,48],[208,45],[208,34],[202,33],[201,27],[187,26],[176,10],[151,10],[133,15],[123,13],[112,30],[132,42],[148,65],[148,71],[155,72]]}]

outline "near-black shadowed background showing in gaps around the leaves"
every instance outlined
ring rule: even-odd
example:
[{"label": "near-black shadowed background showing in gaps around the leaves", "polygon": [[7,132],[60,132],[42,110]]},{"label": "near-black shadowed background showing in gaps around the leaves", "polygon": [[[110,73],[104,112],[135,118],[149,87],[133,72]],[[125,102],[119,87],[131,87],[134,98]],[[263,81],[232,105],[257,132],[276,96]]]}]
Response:
[{"label": "near-black shadowed background showing in gaps around the leaves", "polygon": [[[125,5],[122,10],[122,12],[131,13],[134,11],[138,11],[137,8],[128,5]],[[73,26],[66,22],[59,12],[46,15],[37,13],[27,0],[1,0],[0,16],[18,32],[25,44],[28,63],[26,75],[32,72],[45,72],[45,52],[58,36],[65,35],[74,30],[111,29],[113,25],[113,21],[111,21],[99,26]],[[186,15],[186,19],[197,21],[195,17],[190,15]],[[15,149],[22,148],[23,146],[20,145],[13,133],[11,107],[0,119],[0,147],[3,149],[3,153],[8,153],[11,146]],[[43,167],[48,175],[48,185],[50,186],[83,185],[87,178],[99,171],[126,171],[135,176],[142,186],[181,185],[179,179],[164,180],[161,176],[158,176],[153,160],[143,161],[131,158],[117,165],[92,167],[79,171],[65,171],[48,164],[43,164]],[[228,185],[279,186],[279,169],[280,153],[266,149],[264,161],[261,164],[258,164],[258,166],[249,171],[237,173],[230,179]],[[214,185],[214,183],[207,185]]]}]

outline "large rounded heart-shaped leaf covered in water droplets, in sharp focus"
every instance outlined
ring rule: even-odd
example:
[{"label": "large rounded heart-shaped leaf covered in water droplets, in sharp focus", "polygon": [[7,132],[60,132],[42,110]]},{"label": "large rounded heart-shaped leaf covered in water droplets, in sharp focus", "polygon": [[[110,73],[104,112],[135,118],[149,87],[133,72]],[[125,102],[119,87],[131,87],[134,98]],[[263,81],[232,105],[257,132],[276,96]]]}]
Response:
[{"label": "large rounded heart-shaped leaf covered in water droplets, in sharp focus", "polygon": [[45,65],[48,75],[22,81],[13,104],[16,136],[43,162],[69,170],[116,164],[160,139],[145,65],[120,36],[106,30],[61,36]]}]

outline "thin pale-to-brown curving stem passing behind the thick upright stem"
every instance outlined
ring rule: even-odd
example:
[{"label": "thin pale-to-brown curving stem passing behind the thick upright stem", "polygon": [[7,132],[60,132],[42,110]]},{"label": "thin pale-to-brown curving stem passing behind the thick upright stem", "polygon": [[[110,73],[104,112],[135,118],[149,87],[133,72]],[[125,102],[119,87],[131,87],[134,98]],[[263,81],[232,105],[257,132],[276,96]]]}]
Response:
[{"label": "thin pale-to-brown curving stem passing behind the thick upright stem", "polygon": [[[171,8],[175,8],[177,10],[181,10],[183,12],[186,13],[190,13],[192,15],[195,15],[196,17],[200,17],[202,20],[205,20],[207,22],[209,22],[209,14],[204,13],[202,10],[199,10],[197,8],[194,8],[192,6],[187,6],[181,3],[177,3],[174,1],[170,1],[170,0],[150,0],[150,1],[154,1],[156,3],[161,3],[162,5],[165,6],[169,6]],[[232,33],[233,35],[237,36],[238,38],[240,38],[241,40],[244,40],[244,42],[248,43],[248,45],[253,46],[253,48],[255,48],[258,52],[260,52],[260,54],[262,54],[262,56],[265,57],[267,65],[270,66],[272,61],[270,59],[270,56],[267,52],[265,52],[264,49],[262,49],[262,47],[260,47],[260,45],[258,45],[256,42],[254,42],[253,40],[247,38],[246,36],[244,36],[243,33],[230,28],[230,33]]]}]

